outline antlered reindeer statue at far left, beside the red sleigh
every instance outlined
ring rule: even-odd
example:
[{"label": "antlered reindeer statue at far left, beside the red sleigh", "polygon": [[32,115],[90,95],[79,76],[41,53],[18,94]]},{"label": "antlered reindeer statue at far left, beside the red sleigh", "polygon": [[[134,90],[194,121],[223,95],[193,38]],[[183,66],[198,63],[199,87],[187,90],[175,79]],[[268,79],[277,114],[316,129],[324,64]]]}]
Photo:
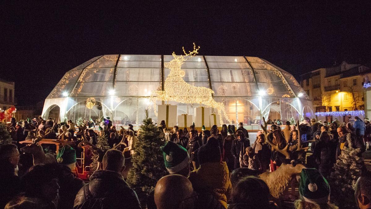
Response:
[{"label": "antlered reindeer statue at far left, beside the red sleigh", "polygon": [[46,163],[56,163],[56,155],[53,153],[45,154],[43,147],[39,144],[39,142],[45,138],[50,133],[50,129],[47,129],[44,135],[40,136],[39,131],[36,128],[36,138],[33,139],[33,142],[23,148],[21,148],[22,152],[26,152],[33,155],[33,164],[46,164]]}]

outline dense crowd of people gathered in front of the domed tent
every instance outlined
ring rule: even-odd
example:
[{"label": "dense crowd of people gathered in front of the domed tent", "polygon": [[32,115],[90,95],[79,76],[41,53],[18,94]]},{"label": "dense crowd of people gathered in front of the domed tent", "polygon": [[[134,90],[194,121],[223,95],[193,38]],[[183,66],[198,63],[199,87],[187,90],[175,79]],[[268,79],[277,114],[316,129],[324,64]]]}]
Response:
[{"label": "dense crowd of people gathered in front of the domed tent", "polygon": [[[324,124],[304,118],[296,126],[286,122],[282,129],[279,126],[282,121],[267,123],[272,124],[270,129],[263,127],[250,144],[243,123],[238,127],[224,124],[221,130],[216,125],[210,130],[203,126],[198,132],[194,125],[170,129],[162,121],[158,128],[165,141],[161,151],[169,175],[154,185],[146,201],[147,208],[277,208],[279,203],[271,195],[271,185],[259,178],[259,174],[274,172],[292,161],[307,167],[298,173],[300,198],[295,201],[295,207],[337,208],[329,202],[326,179],[342,149],[349,146],[348,133],[351,145],[360,148],[360,153],[371,148],[370,121],[355,117],[354,124],[342,126],[338,120]],[[98,132],[89,129],[95,125],[99,125]],[[13,143],[0,147],[3,176],[0,208],[143,207],[121,174],[125,169],[124,155],[136,154],[140,130],[134,131],[129,126],[117,131],[109,118],[76,124],[72,120],[56,123],[52,118],[41,117],[22,122],[12,118],[7,129]],[[76,152],[84,139],[85,144],[96,146],[99,137],[106,137],[111,149],[98,157],[99,165],[86,183],[74,173]],[[55,156],[53,147],[38,144],[42,138],[69,143]],[[35,143],[29,146],[19,143],[27,139]],[[306,147],[309,143],[312,155],[306,157],[307,150],[296,152],[301,145]],[[42,155],[37,152],[39,148]],[[290,155],[284,156],[282,150]],[[52,161],[47,161],[44,152],[54,155]],[[359,208],[371,208],[371,180],[365,167],[362,171],[355,187],[355,199]]]}]

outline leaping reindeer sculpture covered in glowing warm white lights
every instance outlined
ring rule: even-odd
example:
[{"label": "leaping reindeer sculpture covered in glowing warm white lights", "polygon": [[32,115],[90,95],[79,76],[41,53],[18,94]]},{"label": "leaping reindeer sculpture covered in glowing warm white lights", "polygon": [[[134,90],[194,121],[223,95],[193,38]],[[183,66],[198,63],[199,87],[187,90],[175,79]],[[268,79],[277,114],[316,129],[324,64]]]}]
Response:
[{"label": "leaping reindeer sculpture covered in glowing warm white lights", "polygon": [[188,51],[188,53],[185,52],[183,47],[184,55],[175,55],[175,52],[173,52],[174,59],[164,64],[166,68],[170,69],[170,74],[167,76],[164,83],[164,91],[152,91],[150,98],[151,103],[153,103],[155,115],[157,115],[156,100],[170,100],[185,104],[200,103],[216,109],[220,116],[221,123],[223,121],[221,117],[222,112],[226,120],[232,123],[225,112],[224,104],[216,102],[213,99],[213,90],[206,87],[192,86],[183,80],[185,72],[181,70],[181,65],[185,60],[189,60],[198,54],[198,49],[200,49],[200,46],[196,48],[194,43],[193,51]]}]

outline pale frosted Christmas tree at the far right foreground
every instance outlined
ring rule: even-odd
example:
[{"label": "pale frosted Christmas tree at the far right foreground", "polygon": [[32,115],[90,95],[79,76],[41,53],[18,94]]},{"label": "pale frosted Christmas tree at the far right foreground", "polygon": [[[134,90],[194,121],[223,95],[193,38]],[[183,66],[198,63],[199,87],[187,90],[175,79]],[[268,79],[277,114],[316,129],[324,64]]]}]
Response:
[{"label": "pale frosted Christmas tree at the far right foreground", "polygon": [[359,148],[352,147],[351,134],[347,134],[348,146],[344,147],[334,165],[329,183],[331,185],[332,202],[341,208],[354,208],[354,184],[361,176],[362,160]]}]

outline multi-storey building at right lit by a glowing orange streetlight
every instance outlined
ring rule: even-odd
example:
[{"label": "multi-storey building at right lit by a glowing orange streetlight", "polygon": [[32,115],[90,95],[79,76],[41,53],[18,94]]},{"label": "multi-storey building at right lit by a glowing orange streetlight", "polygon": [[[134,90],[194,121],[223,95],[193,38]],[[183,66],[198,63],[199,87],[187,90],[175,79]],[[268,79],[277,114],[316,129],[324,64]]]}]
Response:
[{"label": "multi-storey building at right lit by a glowing orange streetlight", "polygon": [[[363,84],[370,82],[370,76],[368,65],[348,64],[344,61],[338,66],[320,68],[301,75],[301,86],[313,100],[315,112],[363,110]],[[347,117],[343,119],[348,122]]]}]

